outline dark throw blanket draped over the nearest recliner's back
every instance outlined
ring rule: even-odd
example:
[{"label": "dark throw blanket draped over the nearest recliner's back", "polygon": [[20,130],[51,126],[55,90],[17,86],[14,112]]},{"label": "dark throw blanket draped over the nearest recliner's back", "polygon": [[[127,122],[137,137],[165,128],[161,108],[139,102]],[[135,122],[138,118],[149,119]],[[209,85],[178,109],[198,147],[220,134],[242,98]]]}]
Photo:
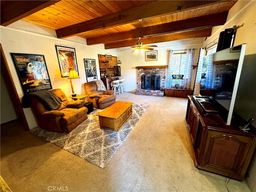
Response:
[{"label": "dark throw blanket draped over the nearest recliner's back", "polygon": [[56,110],[62,104],[61,100],[53,93],[47,90],[40,90],[37,92],[26,94],[22,97],[22,107],[30,107],[30,97],[36,97],[42,102],[44,107],[51,111]]}]

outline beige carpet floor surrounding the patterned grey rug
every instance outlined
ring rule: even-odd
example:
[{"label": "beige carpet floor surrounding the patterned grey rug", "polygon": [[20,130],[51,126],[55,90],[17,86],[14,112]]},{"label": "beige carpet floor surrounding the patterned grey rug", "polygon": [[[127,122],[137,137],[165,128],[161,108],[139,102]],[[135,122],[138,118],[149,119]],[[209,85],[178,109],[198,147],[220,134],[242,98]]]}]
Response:
[{"label": "beige carpet floor surrounding the patterned grey rug", "polygon": [[[13,192],[227,192],[226,178],[194,167],[184,118],[187,99],[140,96],[117,100],[149,104],[104,169],[31,132],[18,122],[1,126],[1,176]],[[230,192],[250,192],[230,180]]]}]

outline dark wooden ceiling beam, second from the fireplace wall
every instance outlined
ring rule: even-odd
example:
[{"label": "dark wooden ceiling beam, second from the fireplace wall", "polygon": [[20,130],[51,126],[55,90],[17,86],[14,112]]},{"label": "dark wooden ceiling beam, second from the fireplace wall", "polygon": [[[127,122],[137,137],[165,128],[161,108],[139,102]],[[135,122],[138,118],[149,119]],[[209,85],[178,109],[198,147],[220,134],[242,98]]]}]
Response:
[{"label": "dark wooden ceiling beam, second from the fireplace wall", "polygon": [[166,24],[159,24],[145,28],[130,30],[127,32],[113,33],[104,36],[86,39],[87,45],[106,44],[109,42],[123,41],[124,39],[132,39],[142,36],[150,36],[156,34],[164,34],[170,32],[178,32],[184,30],[192,30],[196,28],[205,28],[223,25],[226,22],[228,12],[218,14],[206,15],[186,20],[169,22]]}]

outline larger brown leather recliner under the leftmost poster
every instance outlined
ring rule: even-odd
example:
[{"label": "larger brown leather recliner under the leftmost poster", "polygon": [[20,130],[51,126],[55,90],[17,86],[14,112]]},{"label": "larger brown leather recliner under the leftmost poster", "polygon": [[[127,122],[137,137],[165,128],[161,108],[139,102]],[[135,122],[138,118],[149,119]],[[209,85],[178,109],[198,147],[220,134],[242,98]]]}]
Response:
[{"label": "larger brown leather recliner under the leftmost poster", "polygon": [[[38,92],[40,93],[40,91]],[[47,91],[44,90],[44,92]],[[30,107],[40,128],[52,132],[69,133],[88,118],[86,114],[88,109],[84,107],[83,100],[70,102],[61,89],[49,90],[49,92],[54,93],[58,97],[52,97],[52,100],[50,98],[49,103],[54,99],[60,100],[58,100],[59,107],[55,110],[49,110],[46,104],[44,104],[45,101],[42,101],[35,94],[28,94],[27,96],[27,101],[30,103]],[[24,97],[22,99],[22,105],[24,107]]]}]

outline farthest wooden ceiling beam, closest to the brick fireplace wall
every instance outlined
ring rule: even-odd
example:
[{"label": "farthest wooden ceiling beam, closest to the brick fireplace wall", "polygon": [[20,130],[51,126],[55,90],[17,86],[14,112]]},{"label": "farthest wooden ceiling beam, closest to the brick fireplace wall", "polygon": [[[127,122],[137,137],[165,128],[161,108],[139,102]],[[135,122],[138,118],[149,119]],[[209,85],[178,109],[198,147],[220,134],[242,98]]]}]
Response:
[{"label": "farthest wooden ceiling beam, closest to the brick fireplace wall", "polygon": [[[211,36],[211,34],[212,34],[212,27],[183,31],[183,32],[174,32],[170,34],[164,34],[164,35],[158,35],[158,36],[152,36],[152,37],[145,37],[145,38],[141,38],[140,42],[146,45],[146,44],[152,44],[152,43],[169,42],[169,41],[183,40],[183,39],[190,39],[190,38],[209,37]],[[115,42],[115,43],[105,44],[105,49],[134,46],[137,42],[138,42],[137,39],[133,39],[133,40],[127,40],[124,42]]]}]

